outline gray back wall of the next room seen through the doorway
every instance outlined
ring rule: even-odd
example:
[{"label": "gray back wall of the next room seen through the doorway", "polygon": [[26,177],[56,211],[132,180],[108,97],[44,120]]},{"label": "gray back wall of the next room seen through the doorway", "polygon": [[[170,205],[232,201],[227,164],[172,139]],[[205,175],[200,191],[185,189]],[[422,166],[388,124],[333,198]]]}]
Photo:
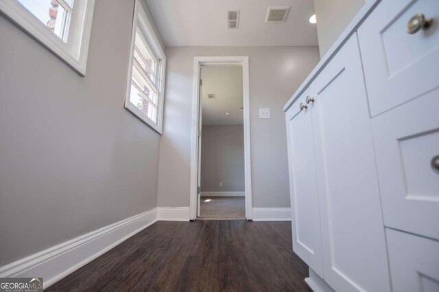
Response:
[{"label": "gray back wall of the next room seen through the doorway", "polygon": [[244,191],[244,182],[244,125],[203,125],[201,191]]}]

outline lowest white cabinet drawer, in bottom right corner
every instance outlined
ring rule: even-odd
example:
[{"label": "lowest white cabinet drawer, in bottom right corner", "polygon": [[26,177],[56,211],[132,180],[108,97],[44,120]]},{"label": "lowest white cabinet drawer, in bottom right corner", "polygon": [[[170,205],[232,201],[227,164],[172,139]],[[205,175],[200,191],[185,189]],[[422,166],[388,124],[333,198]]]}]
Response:
[{"label": "lowest white cabinet drawer, in bottom right corner", "polygon": [[439,291],[439,241],[387,230],[393,291]]}]

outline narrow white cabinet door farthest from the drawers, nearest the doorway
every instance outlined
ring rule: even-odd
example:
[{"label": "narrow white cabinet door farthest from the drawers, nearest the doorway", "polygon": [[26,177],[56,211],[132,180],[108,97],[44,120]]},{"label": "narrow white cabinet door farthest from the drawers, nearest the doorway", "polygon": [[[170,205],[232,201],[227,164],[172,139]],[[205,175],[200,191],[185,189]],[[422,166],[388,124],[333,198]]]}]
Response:
[{"label": "narrow white cabinet door farthest from the drawers, nearest the doorway", "polygon": [[299,109],[299,104],[305,103],[302,99],[286,114],[293,250],[322,277],[313,129],[311,112]]}]

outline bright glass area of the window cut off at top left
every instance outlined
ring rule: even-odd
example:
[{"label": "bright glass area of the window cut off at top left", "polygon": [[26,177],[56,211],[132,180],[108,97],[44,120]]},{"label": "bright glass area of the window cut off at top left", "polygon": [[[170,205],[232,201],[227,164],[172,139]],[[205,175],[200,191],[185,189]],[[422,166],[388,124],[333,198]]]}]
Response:
[{"label": "bright glass area of the window cut off at top left", "polygon": [[[2,0],[1,0],[2,1]],[[46,25],[52,32],[67,42],[71,13],[56,0],[16,0]],[[66,1],[73,5],[73,0]]]}]

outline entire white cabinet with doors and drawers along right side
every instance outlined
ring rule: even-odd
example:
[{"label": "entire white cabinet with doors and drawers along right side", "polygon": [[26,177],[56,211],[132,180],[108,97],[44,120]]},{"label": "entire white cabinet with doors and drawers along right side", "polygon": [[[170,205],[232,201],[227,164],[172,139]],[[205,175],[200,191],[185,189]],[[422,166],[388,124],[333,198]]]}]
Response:
[{"label": "entire white cabinet with doors and drawers along right side", "polygon": [[439,1],[366,5],[285,106],[293,248],[313,289],[439,291]]}]

